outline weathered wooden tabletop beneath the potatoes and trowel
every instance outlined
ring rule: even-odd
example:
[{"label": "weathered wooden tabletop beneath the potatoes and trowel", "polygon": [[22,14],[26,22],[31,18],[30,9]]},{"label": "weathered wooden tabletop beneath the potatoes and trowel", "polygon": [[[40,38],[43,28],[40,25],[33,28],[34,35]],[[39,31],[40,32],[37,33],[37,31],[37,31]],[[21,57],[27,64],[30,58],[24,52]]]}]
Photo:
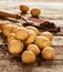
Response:
[{"label": "weathered wooden tabletop beneath the potatoes and trowel", "polygon": [[[22,2],[0,1],[0,10],[12,13],[19,13],[19,6]],[[7,49],[0,48],[0,72],[63,72],[63,3],[44,3],[44,2],[23,2],[29,4],[30,9],[40,8],[44,20],[54,22],[61,27],[61,32],[54,35],[52,47],[56,50],[56,56],[52,61],[42,61],[41,65],[38,63],[22,64],[18,58],[13,58],[8,53]],[[29,17],[27,14],[25,17]],[[1,20],[1,19],[0,19]],[[0,39],[1,41],[1,39]]]}]

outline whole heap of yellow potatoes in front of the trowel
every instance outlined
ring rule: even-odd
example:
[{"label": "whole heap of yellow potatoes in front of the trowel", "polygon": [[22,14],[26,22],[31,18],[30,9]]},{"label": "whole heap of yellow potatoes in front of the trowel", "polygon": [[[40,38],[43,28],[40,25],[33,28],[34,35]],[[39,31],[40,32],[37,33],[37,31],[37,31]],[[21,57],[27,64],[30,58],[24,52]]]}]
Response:
[{"label": "whole heap of yellow potatoes in front of the trowel", "polygon": [[[3,21],[0,23],[3,35],[7,37],[8,50],[11,54],[21,53],[23,63],[33,63],[41,53],[45,60],[55,56],[55,50],[50,47],[53,40],[51,32],[42,32],[34,27],[23,27],[21,23],[10,23]],[[24,48],[25,47],[25,48]]]}]

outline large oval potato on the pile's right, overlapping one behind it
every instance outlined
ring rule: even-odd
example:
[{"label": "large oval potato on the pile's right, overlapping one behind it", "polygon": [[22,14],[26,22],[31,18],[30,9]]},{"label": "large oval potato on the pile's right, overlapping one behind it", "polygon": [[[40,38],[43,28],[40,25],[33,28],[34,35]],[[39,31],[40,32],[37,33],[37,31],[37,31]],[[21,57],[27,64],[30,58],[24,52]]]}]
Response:
[{"label": "large oval potato on the pile's right, overlapping one behind it", "polygon": [[43,49],[43,48],[45,48],[45,47],[51,45],[51,41],[50,41],[46,37],[38,35],[38,37],[35,38],[35,44],[36,44],[39,48]]}]

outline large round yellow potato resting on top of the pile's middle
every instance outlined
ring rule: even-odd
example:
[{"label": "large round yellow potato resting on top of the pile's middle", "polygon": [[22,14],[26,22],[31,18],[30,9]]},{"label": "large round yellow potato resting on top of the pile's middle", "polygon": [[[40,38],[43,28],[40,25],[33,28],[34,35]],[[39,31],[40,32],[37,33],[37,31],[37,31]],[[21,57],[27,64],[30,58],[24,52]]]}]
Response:
[{"label": "large round yellow potato resting on top of the pile's middle", "polygon": [[19,40],[25,40],[29,35],[29,32],[25,28],[20,28],[20,29],[17,29],[15,31],[15,38],[19,39]]}]

